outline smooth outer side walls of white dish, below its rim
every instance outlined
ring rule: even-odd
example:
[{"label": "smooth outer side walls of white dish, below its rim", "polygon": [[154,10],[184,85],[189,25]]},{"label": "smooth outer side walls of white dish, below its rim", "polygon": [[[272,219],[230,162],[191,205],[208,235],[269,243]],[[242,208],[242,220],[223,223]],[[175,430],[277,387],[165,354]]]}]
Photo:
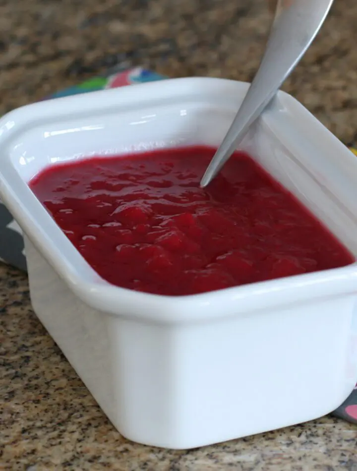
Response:
[{"label": "smooth outer side walls of white dish, below its rim", "polygon": [[90,308],[27,237],[25,246],[37,316],[130,440],[180,449],[239,438],[322,416],[354,387],[355,296],[187,326],[140,323]]}]

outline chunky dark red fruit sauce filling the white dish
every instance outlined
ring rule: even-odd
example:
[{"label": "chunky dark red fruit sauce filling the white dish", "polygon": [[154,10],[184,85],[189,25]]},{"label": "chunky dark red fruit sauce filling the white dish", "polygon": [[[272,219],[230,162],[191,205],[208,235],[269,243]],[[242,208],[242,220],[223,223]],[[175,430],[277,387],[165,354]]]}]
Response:
[{"label": "chunky dark red fruit sauce filling the white dish", "polygon": [[352,255],[243,153],[206,189],[214,149],[59,164],[30,186],[108,282],[184,295],[348,265]]}]

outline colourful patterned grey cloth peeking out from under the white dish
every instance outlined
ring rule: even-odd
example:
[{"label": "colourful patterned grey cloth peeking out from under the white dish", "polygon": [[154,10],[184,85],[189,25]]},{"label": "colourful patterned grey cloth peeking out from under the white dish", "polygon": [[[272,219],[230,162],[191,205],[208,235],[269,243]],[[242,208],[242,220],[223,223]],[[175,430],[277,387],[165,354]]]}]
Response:
[{"label": "colourful patterned grey cloth peeking out from under the white dish", "polygon": [[[45,100],[60,98],[78,93],[88,93],[106,88],[123,87],[137,83],[161,80],[164,77],[150,70],[141,67],[123,70],[122,68],[112,69],[109,74],[102,77],[94,77],[85,82],[57,92]],[[357,143],[356,143],[357,144]],[[356,147],[350,147],[357,156]],[[14,265],[17,268],[26,270],[26,258],[24,253],[24,243],[21,229],[13,220],[11,214],[0,201],[0,260]],[[323,391],[321,391],[323,394]],[[350,397],[336,410],[333,415],[344,418],[357,424],[357,384]]]}]

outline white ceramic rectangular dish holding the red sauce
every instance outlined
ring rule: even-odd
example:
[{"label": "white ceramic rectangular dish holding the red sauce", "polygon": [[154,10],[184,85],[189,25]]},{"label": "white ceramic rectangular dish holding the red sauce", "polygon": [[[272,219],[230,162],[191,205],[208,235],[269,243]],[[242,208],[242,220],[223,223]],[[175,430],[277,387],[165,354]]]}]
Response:
[{"label": "white ceramic rectangular dish holding the red sauce", "polygon": [[[0,195],[24,233],[34,310],[127,438],[190,448],[306,421],[357,378],[357,264],[166,297],[100,279],[27,182],[57,162],[218,145],[248,85],[160,81],[47,101],[0,120]],[[279,93],[243,143],[357,255],[357,159]],[[354,351],[355,350],[355,351]]]}]

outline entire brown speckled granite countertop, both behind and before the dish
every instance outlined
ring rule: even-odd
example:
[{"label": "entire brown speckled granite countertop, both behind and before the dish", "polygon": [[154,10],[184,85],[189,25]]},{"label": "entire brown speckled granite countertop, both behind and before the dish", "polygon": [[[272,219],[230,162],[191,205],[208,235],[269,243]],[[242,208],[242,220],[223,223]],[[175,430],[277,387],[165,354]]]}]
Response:
[{"label": "entire brown speckled granite countertop, both behind and before the dish", "polygon": [[[266,0],[0,0],[0,114],[115,65],[249,80]],[[284,85],[345,142],[357,130],[357,3],[336,0]],[[356,426],[324,417],[190,451],[120,437],[0,263],[0,470],[357,470]]]}]

